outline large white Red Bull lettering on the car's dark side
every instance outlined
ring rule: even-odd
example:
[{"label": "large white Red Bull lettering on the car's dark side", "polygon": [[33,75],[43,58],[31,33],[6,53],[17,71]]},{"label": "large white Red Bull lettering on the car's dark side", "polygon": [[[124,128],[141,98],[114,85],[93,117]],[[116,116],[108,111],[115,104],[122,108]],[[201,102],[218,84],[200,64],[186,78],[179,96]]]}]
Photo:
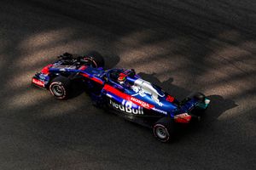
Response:
[{"label": "large white Red Bull lettering on the car's dark side", "polygon": [[137,108],[133,108],[131,101],[126,101],[125,99],[123,99],[122,104],[118,104],[110,99],[109,104],[112,105],[114,109],[119,111],[132,113],[134,115],[143,115],[143,108],[141,106],[137,106]]}]

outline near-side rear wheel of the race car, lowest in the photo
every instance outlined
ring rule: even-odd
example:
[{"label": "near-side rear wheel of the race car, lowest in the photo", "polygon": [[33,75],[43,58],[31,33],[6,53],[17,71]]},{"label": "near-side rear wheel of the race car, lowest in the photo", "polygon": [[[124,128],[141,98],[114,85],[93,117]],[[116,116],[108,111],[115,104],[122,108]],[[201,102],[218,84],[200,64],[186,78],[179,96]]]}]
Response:
[{"label": "near-side rear wheel of the race car, lowest in the photo", "polygon": [[174,132],[174,122],[170,117],[163,117],[158,120],[153,127],[154,137],[161,142],[172,140]]}]

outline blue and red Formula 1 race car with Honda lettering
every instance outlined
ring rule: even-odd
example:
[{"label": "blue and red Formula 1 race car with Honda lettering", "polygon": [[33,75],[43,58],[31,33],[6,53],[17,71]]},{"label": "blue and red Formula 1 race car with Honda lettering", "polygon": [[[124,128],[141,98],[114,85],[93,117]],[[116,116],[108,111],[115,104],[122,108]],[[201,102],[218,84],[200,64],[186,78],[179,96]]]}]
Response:
[{"label": "blue and red Formula 1 race car with Honda lettering", "polygon": [[96,52],[84,56],[66,53],[58,58],[32,77],[33,85],[48,89],[56,99],[67,99],[71,84],[81,82],[96,106],[152,127],[154,136],[162,142],[172,139],[175,124],[200,117],[210,103],[201,93],[178,101],[133,69],[104,71],[104,59]]}]

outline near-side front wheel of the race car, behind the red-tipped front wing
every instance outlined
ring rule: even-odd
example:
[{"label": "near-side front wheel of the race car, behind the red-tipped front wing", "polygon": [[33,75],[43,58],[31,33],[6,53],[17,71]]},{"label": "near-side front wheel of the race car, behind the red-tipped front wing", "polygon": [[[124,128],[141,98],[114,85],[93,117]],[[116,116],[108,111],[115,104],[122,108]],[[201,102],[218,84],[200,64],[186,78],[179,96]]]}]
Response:
[{"label": "near-side front wheel of the race car, behind the red-tipped front wing", "polygon": [[49,84],[49,92],[55,99],[67,99],[70,91],[70,80],[67,77],[55,77]]}]

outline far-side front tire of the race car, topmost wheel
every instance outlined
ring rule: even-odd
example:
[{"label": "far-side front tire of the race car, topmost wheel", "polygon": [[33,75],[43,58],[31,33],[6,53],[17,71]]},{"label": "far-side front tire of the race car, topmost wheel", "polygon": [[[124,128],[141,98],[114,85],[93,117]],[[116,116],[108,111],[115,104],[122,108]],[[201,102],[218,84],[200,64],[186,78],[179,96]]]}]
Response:
[{"label": "far-side front tire of the race car, topmost wheel", "polygon": [[96,51],[90,51],[85,57],[84,60],[89,60],[92,67],[99,68],[105,66],[104,58],[102,54],[99,54]]}]

